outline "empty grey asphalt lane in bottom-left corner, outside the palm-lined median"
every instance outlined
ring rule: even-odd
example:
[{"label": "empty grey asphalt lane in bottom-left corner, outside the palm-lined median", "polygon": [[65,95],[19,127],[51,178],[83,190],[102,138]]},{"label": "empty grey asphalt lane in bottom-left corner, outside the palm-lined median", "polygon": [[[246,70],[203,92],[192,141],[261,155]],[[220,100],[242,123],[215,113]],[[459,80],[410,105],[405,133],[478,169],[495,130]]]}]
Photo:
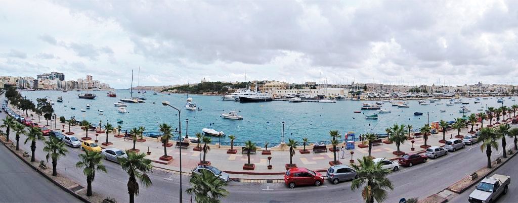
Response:
[{"label": "empty grey asphalt lane in bottom-left corner, outside the palm-lined median", "polygon": [[0,202],[81,202],[0,146]]}]

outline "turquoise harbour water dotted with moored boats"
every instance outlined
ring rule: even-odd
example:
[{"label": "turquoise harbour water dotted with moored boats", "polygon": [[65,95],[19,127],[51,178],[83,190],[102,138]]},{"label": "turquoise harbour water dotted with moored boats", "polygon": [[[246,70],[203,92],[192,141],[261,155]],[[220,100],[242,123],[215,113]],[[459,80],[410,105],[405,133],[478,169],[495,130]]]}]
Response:
[{"label": "turquoise harbour water dotted with moored boats", "polygon": [[[202,111],[188,111],[183,107],[186,95],[171,94],[152,95],[151,91],[146,93],[146,103],[127,103],[127,114],[117,112],[118,107],[113,103],[121,98],[129,97],[129,90],[118,90],[117,98],[106,97],[106,91],[94,91],[97,94],[95,100],[79,99],[77,91],[23,91],[22,95],[33,101],[36,98],[49,96],[52,100],[63,97],[63,102],[55,102],[54,110],[58,116],[69,118],[75,116],[77,119],[86,119],[93,123],[103,120],[117,126],[117,119],[124,120],[123,129],[144,126],[146,132],[158,132],[158,125],[166,122],[178,128],[178,115],[176,110],[171,107],[163,106],[162,101],[169,101],[172,106],[182,108],[182,134],[185,134],[185,119],[189,119],[189,135],[202,133],[203,128],[223,131],[228,135],[236,135],[236,142],[280,143],[282,139],[282,124],[284,121],[284,140],[288,138],[301,140],[308,137],[310,141],[329,140],[329,130],[338,130],[342,135],[347,132],[355,132],[356,135],[373,132],[385,133],[386,128],[394,123],[411,124],[414,129],[418,129],[427,123],[426,113],[429,112],[429,121],[439,121],[440,119],[449,121],[457,117],[462,117],[458,113],[461,106],[468,107],[471,113],[478,113],[477,109],[484,109],[488,106],[499,107],[502,104],[496,102],[496,98],[480,100],[480,104],[474,104],[474,98],[461,98],[470,104],[455,104],[447,106],[448,100],[442,100],[442,105],[430,103],[430,105],[418,105],[415,100],[408,101],[409,108],[397,108],[385,103],[382,108],[392,111],[390,114],[378,114],[378,120],[367,120],[365,115],[377,113],[375,110],[364,110],[361,114],[353,113],[360,111],[362,103],[367,101],[337,101],[337,103],[289,103],[283,101],[272,101],[262,103],[239,103],[234,101],[221,101],[218,96],[199,96],[190,95]],[[135,96],[135,95],[134,95]],[[504,105],[510,106],[514,101],[505,99]],[[152,102],[155,102],[153,104]],[[371,101],[368,101],[369,103]],[[86,105],[90,103],[90,110]],[[437,102],[436,102],[437,103]],[[67,105],[67,107],[64,107]],[[76,110],[70,110],[70,106]],[[84,109],[86,112],[81,112]],[[97,110],[104,110],[103,115],[98,115]],[[439,110],[446,110],[441,113]],[[238,115],[244,117],[243,120],[229,120],[221,117],[222,113],[228,111],[240,111]],[[423,116],[414,116],[414,112],[422,112]],[[364,115],[365,114],[365,115]],[[213,124],[211,124],[213,123]],[[228,141],[227,137],[222,137],[221,141]],[[212,140],[218,141],[219,138],[213,137]]]}]

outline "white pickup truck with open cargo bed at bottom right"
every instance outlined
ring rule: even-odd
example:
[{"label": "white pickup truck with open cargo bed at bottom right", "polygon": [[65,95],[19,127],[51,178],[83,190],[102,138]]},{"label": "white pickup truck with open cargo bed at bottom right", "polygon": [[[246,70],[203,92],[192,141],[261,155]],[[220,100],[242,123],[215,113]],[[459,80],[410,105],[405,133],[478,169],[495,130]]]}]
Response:
[{"label": "white pickup truck with open cargo bed at bottom right", "polygon": [[506,194],[511,177],[493,175],[480,181],[477,188],[469,194],[469,202],[492,203],[501,194]]}]

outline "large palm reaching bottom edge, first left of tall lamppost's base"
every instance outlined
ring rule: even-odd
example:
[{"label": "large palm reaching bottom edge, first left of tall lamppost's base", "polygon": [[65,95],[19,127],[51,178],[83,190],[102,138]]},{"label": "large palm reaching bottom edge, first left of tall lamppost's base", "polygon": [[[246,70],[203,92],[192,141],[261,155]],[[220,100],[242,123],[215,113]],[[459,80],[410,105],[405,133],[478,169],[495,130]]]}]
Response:
[{"label": "large palm reaching bottom edge, first left of tall lamppost's base", "polygon": [[147,175],[152,169],[151,160],[146,159],[145,153],[135,153],[133,151],[126,151],[127,158],[118,158],[119,163],[126,174],[130,176],[128,179],[128,194],[130,194],[130,203],[135,202],[135,196],[138,196],[139,186],[137,178],[144,186],[151,186],[153,184]]}]

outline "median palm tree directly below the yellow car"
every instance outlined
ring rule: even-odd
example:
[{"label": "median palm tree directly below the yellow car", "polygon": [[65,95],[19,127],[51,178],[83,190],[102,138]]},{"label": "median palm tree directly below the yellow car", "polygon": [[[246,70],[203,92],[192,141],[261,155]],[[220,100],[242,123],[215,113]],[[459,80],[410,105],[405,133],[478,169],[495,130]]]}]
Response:
[{"label": "median palm tree directly below the yellow car", "polygon": [[95,171],[108,173],[103,165],[103,158],[103,154],[97,151],[85,151],[79,154],[80,161],[76,163],[76,167],[83,168],[83,174],[87,176],[87,196],[92,196],[92,181],[95,180]]}]

